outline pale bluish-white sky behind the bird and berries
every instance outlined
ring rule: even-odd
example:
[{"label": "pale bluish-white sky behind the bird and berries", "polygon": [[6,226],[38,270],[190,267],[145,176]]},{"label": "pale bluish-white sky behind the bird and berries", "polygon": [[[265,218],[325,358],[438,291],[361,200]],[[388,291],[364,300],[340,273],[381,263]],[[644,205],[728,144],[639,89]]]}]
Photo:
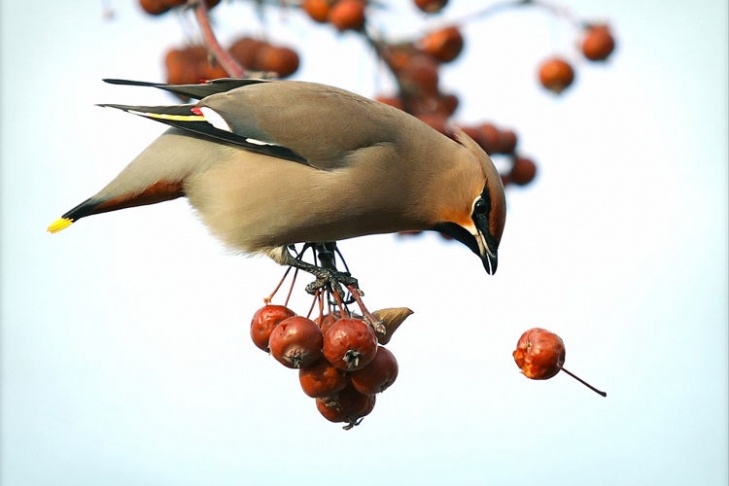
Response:
[{"label": "pale bluish-white sky behind the bird and berries", "polygon": [[[387,3],[376,25],[417,31]],[[515,128],[538,180],[508,192],[494,277],[437,235],[341,244],[371,308],[416,311],[388,346],[398,381],[349,432],[249,339],[283,269],[226,252],[184,200],[46,233],[163,130],[94,104],[171,101],[101,79],[163,80],[184,23],[106,4],[113,21],[100,0],[2,2],[3,486],[727,484],[725,1],[565,0],[619,47],[561,99],[534,72],[572,55],[564,23],[468,25],[443,71],[457,119]],[[356,37],[271,13],[299,79],[390,85]],[[245,5],[216,18],[224,40],[262,30]],[[511,352],[534,326],[608,397],[524,378]]]}]

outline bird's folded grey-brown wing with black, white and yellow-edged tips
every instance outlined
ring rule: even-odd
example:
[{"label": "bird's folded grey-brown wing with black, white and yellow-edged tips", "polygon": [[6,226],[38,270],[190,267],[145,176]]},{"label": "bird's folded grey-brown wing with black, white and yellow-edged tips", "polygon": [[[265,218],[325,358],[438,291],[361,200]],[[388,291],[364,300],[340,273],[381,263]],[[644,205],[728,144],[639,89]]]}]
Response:
[{"label": "bird's folded grey-brown wing with black, white and yellow-edged tips", "polygon": [[347,166],[361,150],[397,145],[421,130],[404,112],[348,91],[301,81],[222,79],[201,85],[149,86],[186,96],[197,104],[128,106],[102,104],[192,132],[319,169]]}]

